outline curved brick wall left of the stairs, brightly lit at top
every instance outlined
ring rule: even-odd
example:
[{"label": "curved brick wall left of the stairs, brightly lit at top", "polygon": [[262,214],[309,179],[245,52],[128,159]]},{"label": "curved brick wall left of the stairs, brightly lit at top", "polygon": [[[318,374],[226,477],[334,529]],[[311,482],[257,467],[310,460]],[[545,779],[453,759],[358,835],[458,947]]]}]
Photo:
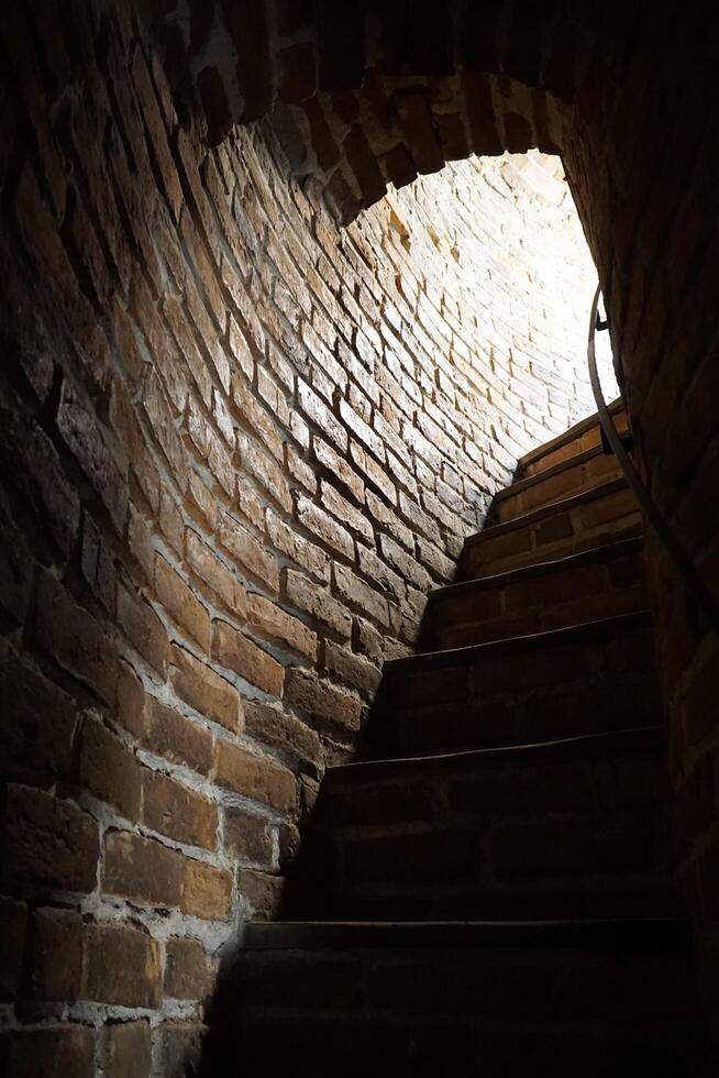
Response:
[{"label": "curved brick wall left of the stairs, brightly lit at top", "polygon": [[269,128],[178,122],[133,7],[0,29],[8,1074],[179,1072],[383,659],[589,408],[555,163],[340,229]]}]

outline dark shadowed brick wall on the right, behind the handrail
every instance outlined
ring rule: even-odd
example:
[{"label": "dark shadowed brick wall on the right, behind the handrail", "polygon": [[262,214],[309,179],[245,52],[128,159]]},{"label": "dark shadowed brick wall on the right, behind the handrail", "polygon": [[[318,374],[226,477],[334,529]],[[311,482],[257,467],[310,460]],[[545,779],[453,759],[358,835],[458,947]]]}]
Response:
[{"label": "dark shadowed brick wall on the right, behind the handrail", "polygon": [[[630,4],[611,77],[587,80],[584,138],[567,146],[600,266],[615,351],[627,373],[638,457],[655,501],[719,596],[719,410],[715,226],[717,121],[709,42],[717,12]],[[602,211],[597,211],[602,207]],[[719,1037],[719,724],[717,632],[650,537],[675,833]]]}]

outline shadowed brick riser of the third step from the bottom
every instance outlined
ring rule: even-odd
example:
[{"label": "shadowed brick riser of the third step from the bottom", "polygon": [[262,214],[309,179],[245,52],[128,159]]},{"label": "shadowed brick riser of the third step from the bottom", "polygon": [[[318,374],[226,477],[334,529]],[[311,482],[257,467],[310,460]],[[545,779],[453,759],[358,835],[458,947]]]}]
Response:
[{"label": "shadowed brick riser of the third step from the bottom", "polygon": [[651,616],[626,614],[385,663],[366,754],[418,756],[649,726]]}]

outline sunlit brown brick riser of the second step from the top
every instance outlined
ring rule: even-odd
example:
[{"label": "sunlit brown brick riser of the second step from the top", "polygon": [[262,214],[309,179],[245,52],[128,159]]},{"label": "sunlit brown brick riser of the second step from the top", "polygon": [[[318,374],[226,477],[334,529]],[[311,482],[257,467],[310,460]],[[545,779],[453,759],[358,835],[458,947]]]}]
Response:
[{"label": "sunlit brown brick riser of the second step from the top", "polygon": [[621,474],[617,458],[605,453],[601,446],[595,446],[499,491],[495,495],[490,517],[496,524],[504,524],[582,491],[589,491]]}]

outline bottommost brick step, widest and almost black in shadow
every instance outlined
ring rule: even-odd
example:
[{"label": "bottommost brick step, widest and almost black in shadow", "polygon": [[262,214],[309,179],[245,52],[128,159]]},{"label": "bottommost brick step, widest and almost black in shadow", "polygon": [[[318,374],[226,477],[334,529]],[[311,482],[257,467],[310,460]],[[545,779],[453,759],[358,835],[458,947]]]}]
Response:
[{"label": "bottommost brick step, widest and almost black in shadow", "polygon": [[682,1078],[689,946],[675,921],[250,924],[224,1057],[245,1078]]}]

